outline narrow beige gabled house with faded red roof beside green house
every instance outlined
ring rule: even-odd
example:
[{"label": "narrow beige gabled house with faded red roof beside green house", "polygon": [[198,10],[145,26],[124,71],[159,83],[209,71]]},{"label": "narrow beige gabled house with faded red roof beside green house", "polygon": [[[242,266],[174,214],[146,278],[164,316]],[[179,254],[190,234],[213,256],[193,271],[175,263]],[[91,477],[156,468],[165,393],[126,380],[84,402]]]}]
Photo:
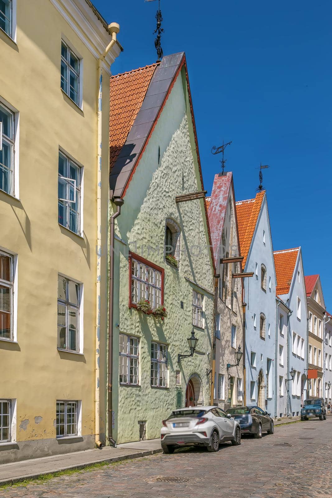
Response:
[{"label": "narrow beige gabled house with faded red roof beside green house", "polygon": [[[211,402],[227,409],[243,404],[243,362],[237,365],[235,353],[243,353],[242,279],[232,173],[217,174],[211,197],[207,198],[209,225],[215,266],[216,331],[213,356],[213,398]],[[237,258],[235,262],[222,262]]]}]

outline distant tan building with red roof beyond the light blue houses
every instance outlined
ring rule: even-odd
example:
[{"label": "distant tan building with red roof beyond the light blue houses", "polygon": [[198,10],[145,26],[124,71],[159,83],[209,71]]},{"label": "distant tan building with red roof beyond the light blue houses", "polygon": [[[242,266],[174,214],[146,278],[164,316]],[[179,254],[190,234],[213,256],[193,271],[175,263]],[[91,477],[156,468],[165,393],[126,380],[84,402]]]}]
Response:
[{"label": "distant tan building with red roof beyond the light blue houses", "polygon": [[305,276],[308,313],[308,369],[317,370],[317,378],[309,382],[309,397],[325,397],[323,386],[325,303],[319,275]]}]

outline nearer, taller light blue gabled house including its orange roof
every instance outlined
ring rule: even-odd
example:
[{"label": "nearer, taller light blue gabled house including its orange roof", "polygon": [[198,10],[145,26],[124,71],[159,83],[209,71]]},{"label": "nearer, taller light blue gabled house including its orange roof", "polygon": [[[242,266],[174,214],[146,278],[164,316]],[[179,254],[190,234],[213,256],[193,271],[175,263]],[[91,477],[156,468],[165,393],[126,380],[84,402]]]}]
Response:
[{"label": "nearer, taller light blue gabled house including its orange roof", "polygon": [[276,273],[265,191],[236,202],[244,272],[246,404],[275,414]]}]

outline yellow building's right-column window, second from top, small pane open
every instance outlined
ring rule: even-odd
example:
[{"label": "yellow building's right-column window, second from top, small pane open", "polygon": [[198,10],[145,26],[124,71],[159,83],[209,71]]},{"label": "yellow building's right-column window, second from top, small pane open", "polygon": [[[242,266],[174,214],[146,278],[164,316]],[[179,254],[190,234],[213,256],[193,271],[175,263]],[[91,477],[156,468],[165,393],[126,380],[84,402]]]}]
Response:
[{"label": "yellow building's right-column window, second from top, small pane open", "polygon": [[83,167],[59,151],[58,222],[77,235],[81,235]]}]

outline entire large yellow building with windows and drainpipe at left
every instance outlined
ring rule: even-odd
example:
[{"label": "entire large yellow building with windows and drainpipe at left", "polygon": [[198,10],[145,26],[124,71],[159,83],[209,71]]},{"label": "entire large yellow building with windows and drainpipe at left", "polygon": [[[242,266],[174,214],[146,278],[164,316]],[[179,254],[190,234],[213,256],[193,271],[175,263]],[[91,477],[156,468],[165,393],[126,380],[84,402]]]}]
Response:
[{"label": "entire large yellow building with windows and drainpipe at left", "polygon": [[117,32],[90,0],[0,2],[0,463],[105,443]]}]

